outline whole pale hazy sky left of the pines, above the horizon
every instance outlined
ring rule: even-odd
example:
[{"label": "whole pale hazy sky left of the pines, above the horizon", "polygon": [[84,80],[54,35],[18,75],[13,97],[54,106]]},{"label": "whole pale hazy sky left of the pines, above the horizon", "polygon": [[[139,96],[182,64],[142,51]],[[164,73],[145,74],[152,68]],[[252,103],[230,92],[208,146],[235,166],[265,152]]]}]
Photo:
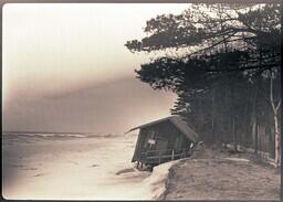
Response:
[{"label": "whole pale hazy sky left of the pines, above the horizon", "polygon": [[135,78],[127,40],[188,4],[6,4],[3,129],[124,132],[169,115],[175,95]]}]

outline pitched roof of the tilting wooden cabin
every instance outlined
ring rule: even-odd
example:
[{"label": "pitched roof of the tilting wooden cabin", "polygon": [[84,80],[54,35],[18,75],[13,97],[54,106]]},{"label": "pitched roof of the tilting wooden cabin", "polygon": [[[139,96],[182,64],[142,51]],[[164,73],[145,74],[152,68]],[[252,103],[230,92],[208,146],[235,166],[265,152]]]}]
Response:
[{"label": "pitched roof of the tilting wooden cabin", "polygon": [[137,126],[135,128],[129,129],[127,132],[130,132],[133,130],[139,129],[139,128],[146,128],[159,123],[164,123],[169,120],[172,125],[175,125],[187,138],[189,138],[190,140],[192,140],[193,142],[197,142],[199,139],[199,136],[196,134],[196,131],[193,131],[188,124],[180,117],[180,116],[169,116],[159,120],[155,120],[148,124],[144,124],[140,126]]}]

